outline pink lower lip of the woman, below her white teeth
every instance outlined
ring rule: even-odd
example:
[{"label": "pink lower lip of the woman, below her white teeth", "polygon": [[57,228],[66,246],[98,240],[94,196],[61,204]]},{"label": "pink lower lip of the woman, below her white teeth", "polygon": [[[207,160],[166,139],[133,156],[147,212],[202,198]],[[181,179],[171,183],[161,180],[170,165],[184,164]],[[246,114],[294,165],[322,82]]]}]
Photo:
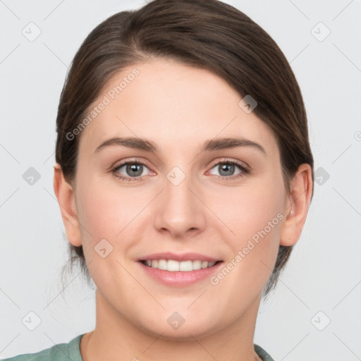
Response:
[{"label": "pink lower lip of the woman, below her white teeth", "polygon": [[188,272],[164,271],[163,269],[146,266],[145,264],[142,264],[142,262],[138,263],[140,264],[140,267],[142,267],[142,269],[144,269],[145,272],[153,279],[164,283],[167,286],[186,287],[192,285],[193,283],[200,282],[204,279],[209,279],[209,277],[217,271],[217,269],[223,262],[214,264],[214,266],[209,268],[202,268]]}]

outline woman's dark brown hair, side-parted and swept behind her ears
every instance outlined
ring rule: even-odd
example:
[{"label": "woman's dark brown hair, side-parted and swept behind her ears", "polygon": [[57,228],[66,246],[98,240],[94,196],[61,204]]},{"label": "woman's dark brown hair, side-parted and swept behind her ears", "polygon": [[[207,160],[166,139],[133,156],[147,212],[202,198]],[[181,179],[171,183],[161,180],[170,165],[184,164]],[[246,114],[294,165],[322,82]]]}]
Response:
[{"label": "woman's dark brown hair, side-parted and swept behind her ears", "polygon": [[[240,97],[250,94],[257,101],[253,111],[276,137],[288,192],[300,164],[310,164],[313,183],[305,106],[286,57],[262,27],[217,0],[154,0],[137,11],[116,13],[90,32],[68,71],[56,118],[56,162],[69,183],[75,181],[81,133],[71,140],[66,135],[112,75],[149,57],[212,71]],[[264,298],[276,286],[292,248],[280,245]],[[79,261],[90,281],[82,246],[69,243],[69,252],[71,269]]]}]

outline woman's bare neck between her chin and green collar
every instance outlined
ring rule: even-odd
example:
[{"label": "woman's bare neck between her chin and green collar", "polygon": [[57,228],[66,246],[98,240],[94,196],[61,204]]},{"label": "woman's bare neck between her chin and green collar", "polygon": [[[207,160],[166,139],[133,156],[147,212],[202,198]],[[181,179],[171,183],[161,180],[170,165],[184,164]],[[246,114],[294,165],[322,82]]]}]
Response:
[{"label": "woman's bare neck between her chin and green collar", "polygon": [[253,346],[259,301],[260,297],[241,317],[223,329],[202,336],[188,332],[188,336],[180,340],[151,334],[130,323],[97,289],[96,327],[81,339],[82,360],[261,360]]}]

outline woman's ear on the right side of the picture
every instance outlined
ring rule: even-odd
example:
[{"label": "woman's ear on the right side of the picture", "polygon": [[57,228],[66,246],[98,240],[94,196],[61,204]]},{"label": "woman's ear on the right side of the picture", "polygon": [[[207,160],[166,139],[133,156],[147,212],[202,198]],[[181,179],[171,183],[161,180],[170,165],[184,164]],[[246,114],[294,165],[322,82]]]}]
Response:
[{"label": "woman's ear on the right side of the picture", "polygon": [[290,194],[281,228],[280,245],[290,246],[298,242],[305,225],[312,197],[312,169],[310,164],[301,164],[290,184]]}]

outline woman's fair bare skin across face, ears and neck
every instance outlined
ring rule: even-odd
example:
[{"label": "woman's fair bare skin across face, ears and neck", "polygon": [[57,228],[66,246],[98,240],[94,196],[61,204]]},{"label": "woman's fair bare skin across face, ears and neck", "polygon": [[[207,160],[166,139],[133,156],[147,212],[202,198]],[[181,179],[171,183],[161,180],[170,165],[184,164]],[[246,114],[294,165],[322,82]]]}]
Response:
[{"label": "woman's fair bare skin across face, ears and neck", "polygon": [[[176,61],[149,59],[123,69],[94,105],[134,68],[139,75],[82,130],[75,182],[68,184],[54,166],[68,241],[83,245],[97,286],[96,327],[80,343],[83,360],[259,360],[253,338],[262,289],[279,245],[300,238],[311,168],[300,166],[288,194],[268,126],[240,108],[239,94],[224,80]],[[94,153],[120,136],[152,140],[159,152],[114,145]],[[255,147],[200,152],[206,140],[235,136],[257,142],[266,154]],[[235,166],[226,179],[219,166],[225,159],[250,173]],[[111,171],[136,160],[146,164],[136,181]],[[166,177],[174,166],[185,175],[178,185]],[[125,166],[117,173],[133,174]],[[166,286],[137,262],[154,252],[197,252],[227,264],[277,214],[283,219],[216,285],[206,278]],[[113,247],[105,258],[94,250],[104,238]],[[177,330],[167,322],[173,312],[185,319]]]}]

